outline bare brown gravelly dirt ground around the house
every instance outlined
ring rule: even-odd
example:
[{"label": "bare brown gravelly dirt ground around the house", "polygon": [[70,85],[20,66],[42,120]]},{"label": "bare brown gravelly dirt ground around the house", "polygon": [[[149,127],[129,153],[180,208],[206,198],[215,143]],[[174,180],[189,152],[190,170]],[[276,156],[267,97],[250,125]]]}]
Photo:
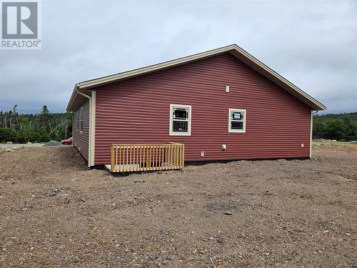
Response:
[{"label": "bare brown gravelly dirt ground around the house", "polygon": [[357,267],[357,149],[111,177],[0,154],[1,267]]}]

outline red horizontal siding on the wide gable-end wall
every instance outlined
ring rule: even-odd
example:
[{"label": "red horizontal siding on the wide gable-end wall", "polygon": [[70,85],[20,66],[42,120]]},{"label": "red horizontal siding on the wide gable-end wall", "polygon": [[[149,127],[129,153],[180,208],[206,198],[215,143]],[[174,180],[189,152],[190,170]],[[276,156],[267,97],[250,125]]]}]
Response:
[{"label": "red horizontal siding on the wide gable-end wall", "polygon": [[[169,136],[169,104],[192,106],[191,137]],[[246,133],[228,133],[230,108],[246,109]],[[306,104],[221,54],[99,86],[95,164],[110,163],[111,143],[181,142],[186,161],[309,157],[310,120]]]}]

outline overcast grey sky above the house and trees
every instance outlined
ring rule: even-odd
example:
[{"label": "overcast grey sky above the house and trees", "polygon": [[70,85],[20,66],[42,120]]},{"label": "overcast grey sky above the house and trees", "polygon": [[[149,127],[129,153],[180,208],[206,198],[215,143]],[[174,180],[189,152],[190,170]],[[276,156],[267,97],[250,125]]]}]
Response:
[{"label": "overcast grey sky above the house and trees", "polygon": [[[10,0],[9,0],[10,1]],[[0,109],[65,111],[79,81],[238,44],[357,111],[357,1],[41,1],[42,49],[0,50]]]}]

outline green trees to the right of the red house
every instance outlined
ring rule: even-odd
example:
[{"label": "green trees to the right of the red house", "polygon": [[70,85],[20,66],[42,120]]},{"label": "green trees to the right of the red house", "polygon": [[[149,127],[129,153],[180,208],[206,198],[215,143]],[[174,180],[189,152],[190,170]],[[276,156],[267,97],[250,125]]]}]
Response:
[{"label": "green trees to the right of the red house", "polygon": [[313,116],[313,138],[357,141],[357,112]]}]

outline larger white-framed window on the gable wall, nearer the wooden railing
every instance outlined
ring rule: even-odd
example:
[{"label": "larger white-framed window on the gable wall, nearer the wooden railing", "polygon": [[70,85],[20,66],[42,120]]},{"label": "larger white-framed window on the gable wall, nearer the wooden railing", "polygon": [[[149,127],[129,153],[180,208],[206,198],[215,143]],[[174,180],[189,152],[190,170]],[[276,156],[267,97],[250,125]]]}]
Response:
[{"label": "larger white-framed window on the gable wall, nearer the wooden railing", "polygon": [[191,105],[170,104],[170,136],[191,136]]}]

